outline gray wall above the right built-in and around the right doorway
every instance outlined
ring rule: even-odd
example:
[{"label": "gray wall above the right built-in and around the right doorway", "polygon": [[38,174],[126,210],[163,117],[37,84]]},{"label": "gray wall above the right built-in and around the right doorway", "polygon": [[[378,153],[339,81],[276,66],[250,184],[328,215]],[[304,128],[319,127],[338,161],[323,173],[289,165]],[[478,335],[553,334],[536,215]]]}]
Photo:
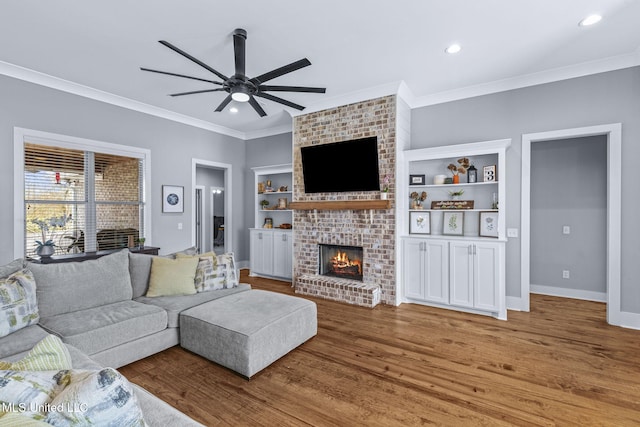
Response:
[{"label": "gray wall above the right built-in and around the right doorway", "polygon": [[[640,313],[640,67],[414,109],[412,148],[512,138],[507,227],[520,228],[524,133],[622,123],[622,310]],[[520,296],[520,240],[507,243],[507,295]]]}]

